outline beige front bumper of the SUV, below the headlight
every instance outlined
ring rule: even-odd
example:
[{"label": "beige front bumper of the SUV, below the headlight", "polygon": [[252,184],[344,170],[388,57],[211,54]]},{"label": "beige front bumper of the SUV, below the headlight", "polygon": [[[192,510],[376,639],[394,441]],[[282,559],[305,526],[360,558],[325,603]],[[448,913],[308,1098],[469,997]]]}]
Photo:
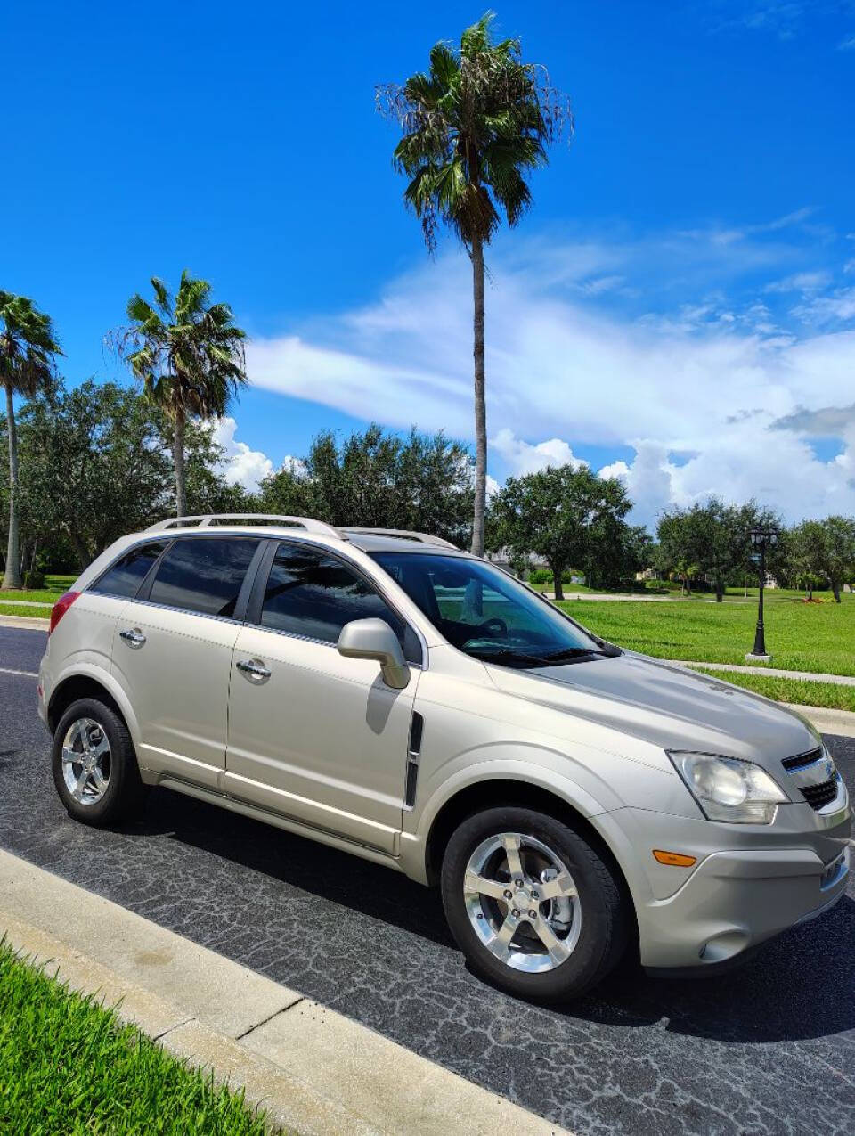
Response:
[{"label": "beige front bumper of the SUV, below the headlight", "polygon": [[[837,810],[793,804],[779,812],[768,827],[632,809],[611,815],[642,858],[630,888],[643,966],[721,968],[841,899],[855,849],[846,797]],[[688,874],[660,868],[653,849],[697,855],[697,864]]]}]

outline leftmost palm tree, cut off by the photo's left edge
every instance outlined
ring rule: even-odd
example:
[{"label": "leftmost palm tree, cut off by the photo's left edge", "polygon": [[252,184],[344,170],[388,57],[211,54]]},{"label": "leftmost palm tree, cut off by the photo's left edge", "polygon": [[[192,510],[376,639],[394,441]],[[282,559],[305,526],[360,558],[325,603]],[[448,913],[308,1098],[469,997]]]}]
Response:
[{"label": "leftmost palm tree, cut off by the photo's left edge", "polygon": [[44,389],[53,374],[53,357],[62,352],[50,316],[39,311],[25,295],[0,290],[0,386],[6,391],[6,427],[9,434],[9,540],[1,586],[14,588],[20,587],[15,395],[32,398]]}]

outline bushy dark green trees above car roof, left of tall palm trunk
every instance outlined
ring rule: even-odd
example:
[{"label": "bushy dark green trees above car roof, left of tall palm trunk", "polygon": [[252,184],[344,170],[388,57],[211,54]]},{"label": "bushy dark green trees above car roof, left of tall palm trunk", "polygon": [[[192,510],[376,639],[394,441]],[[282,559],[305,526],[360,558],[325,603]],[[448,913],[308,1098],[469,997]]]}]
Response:
[{"label": "bushy dark green trees above car roof, left of tall palm trunk", "polygon": [[471,463],[466,448],[442,433],[412,429],[402,438],[372,424],[338,442],[328,432],[304,461],[266,478],[260,507],[332,525],[435,533],[460,544],[471,519]]}]

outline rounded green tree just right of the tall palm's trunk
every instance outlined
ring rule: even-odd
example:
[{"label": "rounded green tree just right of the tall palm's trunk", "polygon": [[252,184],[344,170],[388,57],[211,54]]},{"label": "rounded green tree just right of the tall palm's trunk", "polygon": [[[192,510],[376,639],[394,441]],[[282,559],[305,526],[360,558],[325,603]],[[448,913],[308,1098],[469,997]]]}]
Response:
[{"label": "rounded green tree just right of the tall palm's trunk", "polygon": [[551,466],[508,478],[491,502],[491,544],[517,558],[543,557],[555,580],[555,599],[562,600],[567,568],[584,565],[609,580],[623,574],[615,552],[631,544],[623,520],[631,507],[621,482],[596,477],[586,467]]}]

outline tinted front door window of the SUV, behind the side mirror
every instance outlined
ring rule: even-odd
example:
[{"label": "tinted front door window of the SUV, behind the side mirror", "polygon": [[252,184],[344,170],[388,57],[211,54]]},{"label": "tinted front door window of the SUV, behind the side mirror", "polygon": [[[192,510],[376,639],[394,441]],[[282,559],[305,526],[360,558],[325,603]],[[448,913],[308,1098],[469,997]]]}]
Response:
[{"label": "tinted front door window of the SUV, behind the side mirror", "polygon": [[262,627],[337,643],[352,619],[384,619],[405,658],[421,662],[416,633],[359,573],[320,549],[279,544],[265,588]]}]

